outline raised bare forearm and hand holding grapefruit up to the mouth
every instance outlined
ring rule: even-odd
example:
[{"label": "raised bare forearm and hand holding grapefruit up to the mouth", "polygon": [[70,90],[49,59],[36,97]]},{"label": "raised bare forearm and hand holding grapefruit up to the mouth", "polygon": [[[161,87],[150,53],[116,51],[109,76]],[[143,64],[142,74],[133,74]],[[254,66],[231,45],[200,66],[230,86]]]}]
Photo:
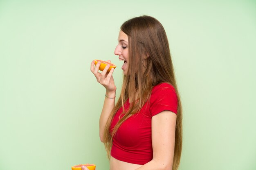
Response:
[{"label": "raised bare forearm and hand holding grapefruit up to the mouth", "polygon": [[[111,62],[110,60],[108,61]],[[106,96],[108,96],[108,98],[105,97],[101,116],[99,119],[99,136],[101,142],[104,142],[104,129],[106,127],[108,117],[110,116],[112,109],[115,107],[115,95],[117,87],[115,86],[114,78],[112,76],[114,69],[112,68],[110,72],[107,72],[108,68],[110,67],[110,65],[108,64],[106,68],[100,73],[99,66],[100,62],[98,62],[97,65],[94,67],[94,61],[92,61],[91,71],[96,77],[97,81],[106,88]]]}]

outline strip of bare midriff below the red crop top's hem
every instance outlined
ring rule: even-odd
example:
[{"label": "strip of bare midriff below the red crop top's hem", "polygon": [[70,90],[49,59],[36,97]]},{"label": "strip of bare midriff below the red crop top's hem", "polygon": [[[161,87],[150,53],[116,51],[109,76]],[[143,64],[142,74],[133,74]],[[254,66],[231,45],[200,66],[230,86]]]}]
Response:
[{"label": "strip of bare midriff below the red crop top's hem", "polygon": [[119,161],[114,157],[110,157],[110,170],[135,170],[142,165]]}]

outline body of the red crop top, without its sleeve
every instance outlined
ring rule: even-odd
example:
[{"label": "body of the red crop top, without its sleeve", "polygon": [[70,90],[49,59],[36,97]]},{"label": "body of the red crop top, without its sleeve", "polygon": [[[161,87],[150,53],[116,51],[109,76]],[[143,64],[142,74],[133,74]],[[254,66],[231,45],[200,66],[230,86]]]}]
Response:
[{"label": "body of the red crop top, without its sleeve", "polygon": [[[125,109],[130,105],[129,100],[125,102]],[[112,120],[110,128],[122,118],[122,108],[117,111]],[[153,158],[151,142],[151,116],[149,107],[142,107],[139,113],[135,113],[122,123],[115,137],[111,156],[119,161],[143,165]]]}]

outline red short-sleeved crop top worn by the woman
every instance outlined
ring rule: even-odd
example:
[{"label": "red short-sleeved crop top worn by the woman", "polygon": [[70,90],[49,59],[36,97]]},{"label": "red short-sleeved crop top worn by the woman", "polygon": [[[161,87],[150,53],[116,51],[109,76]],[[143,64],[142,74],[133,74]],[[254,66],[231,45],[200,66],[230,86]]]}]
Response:
[{"label": "red short-sleeved crop top worn by the woman", "polygon": [[[125,109],[128,109],[129,105],[127,100],[124,104]],[[151,161],[153,159],[151,118],[164,110],[177,114],[177,95],[174,87],[168,83],[153,87],[149,103],[121,124],[113,138],[111,156],[120,161],[140,165]],[[115,114],[110,131],[117,124],[122,111],[123,109],[120,108]],[[121,114],[122,116],[124,115]]]}]

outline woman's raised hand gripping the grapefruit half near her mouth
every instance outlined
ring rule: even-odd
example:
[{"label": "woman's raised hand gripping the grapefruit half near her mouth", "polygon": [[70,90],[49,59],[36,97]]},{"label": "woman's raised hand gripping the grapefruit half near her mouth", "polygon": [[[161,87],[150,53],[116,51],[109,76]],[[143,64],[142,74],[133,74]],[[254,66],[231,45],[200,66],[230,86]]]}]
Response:
[{"label": "woman's raised hand gripping the grapefruit half near her mouth", "polygon": [[[108,62],[111,63],[110,60],[108,60]],[[104,68],[104,70],[100,73],[99,66],[101,65],[101,62],[99,61],[95,67],[94,63],[95,61],[93,60],[91,63],[91,72],[94,74],[97,81],[106,88],[107,93],[114,93],[117,89],[117,87],[115,86],[114,78],[112,76],[114,68],[112,68],[110,72],[107,72],[108,68],[110,67],[110,65],[108,64],[106,68]]]}]

